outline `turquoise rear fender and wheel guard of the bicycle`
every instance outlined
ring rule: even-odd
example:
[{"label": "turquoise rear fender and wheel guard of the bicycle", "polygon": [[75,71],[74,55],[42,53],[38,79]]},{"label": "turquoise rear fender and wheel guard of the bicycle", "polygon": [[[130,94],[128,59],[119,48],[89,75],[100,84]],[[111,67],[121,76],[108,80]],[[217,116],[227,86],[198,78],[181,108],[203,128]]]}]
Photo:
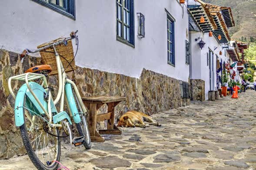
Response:
[{"label": "turquoise rear fender and wheel guard of the bicycle", "polygon": [[[43,107],[47,109],[47,101],[44,100],[44,94],[46,93],[45,89],[39,85],[36,82],[29,82],[30,88],[32,91],[35,93],[39,101],[42,103]],[[37,103],[36,99],[34,96],[30,93],[29,89],[27,88],[27,84],[23,84],[18,93],[17,97],[15,100],[15,109],[14,109],[14,118],[15,118],[15,125],[16,126],[21,126],[24,124],[24,116],[23,116],[23,111],[24,111],[24,97],[27,95],[27,97],[30,99],[30,101],[33,103],[35,108],[37,109],[37,114],[44,114],[43,109],[40,107],[40,105]],[[52,113],[57,112],[57,109],[55,105],[53,104],[53,101],[51,101],[51,111]],[[33,112],[29,111],[30,114],[34,114]]]}]

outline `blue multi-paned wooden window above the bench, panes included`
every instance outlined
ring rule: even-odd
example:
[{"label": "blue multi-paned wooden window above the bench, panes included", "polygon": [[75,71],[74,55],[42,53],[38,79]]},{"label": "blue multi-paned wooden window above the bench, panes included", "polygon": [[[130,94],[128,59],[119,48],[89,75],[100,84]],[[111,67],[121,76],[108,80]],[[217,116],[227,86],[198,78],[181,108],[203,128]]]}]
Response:
[{"label": "blue multi-paned wooden window above the bench, panes included", "polygon": [[116,39],[134,46],[134,0],[116,0]]}]

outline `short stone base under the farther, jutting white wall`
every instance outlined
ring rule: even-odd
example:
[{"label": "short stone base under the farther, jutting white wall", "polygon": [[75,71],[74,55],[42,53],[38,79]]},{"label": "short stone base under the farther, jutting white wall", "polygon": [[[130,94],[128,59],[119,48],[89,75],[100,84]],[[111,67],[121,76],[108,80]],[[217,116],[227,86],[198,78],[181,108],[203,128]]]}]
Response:
[{"label": "short stone base under the farther, jutting white wall", "polygon": [[205,82],[201,79],[190,79],[191,100],[205,101]]}]

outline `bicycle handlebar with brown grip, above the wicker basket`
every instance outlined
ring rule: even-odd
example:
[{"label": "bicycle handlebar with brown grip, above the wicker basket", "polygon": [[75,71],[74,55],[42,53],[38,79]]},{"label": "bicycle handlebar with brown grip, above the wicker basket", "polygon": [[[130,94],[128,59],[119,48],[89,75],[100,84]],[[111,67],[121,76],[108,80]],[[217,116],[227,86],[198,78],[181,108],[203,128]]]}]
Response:
[{"label": "bicycle handlebar with brown grip, above the wicker basket", "polygon": [[63,44],[63,43],[66,42],[66,41],[69,41],[69,40],[71,40],[71,39],[77,38],[77,36],[76,36],[76,33],[77,33],[77,32],[78,32],[78,30],[76,30],[76,32],[72,31],[72,32],[70,33],[70,37],[64,38],[64,39],[62,39],[62,40],[60,40],[60,41],[58,41],[58,42],[51,43],[51,44],[49,44],[49,45],[47,45],[47,46],[43,46],[43,47],[41,47],[40,49],[36,49],[36,50],[24,49],[23,52],[22,52],[22,54],[20,55],[21,63],[23,63],[24,58],[25,58],[29,53],[40,52],[40,51],[42,51],[42,50],[49,49],[49,48],[52,47],[52,46],[58,46],[58,45],[60,45],[60,44]]}]

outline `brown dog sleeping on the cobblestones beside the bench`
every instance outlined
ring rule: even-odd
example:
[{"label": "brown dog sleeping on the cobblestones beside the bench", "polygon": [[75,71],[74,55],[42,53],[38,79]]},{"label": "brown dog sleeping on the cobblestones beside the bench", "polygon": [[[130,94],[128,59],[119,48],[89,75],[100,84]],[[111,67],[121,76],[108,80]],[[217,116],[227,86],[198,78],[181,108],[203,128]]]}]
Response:
[{"label": "brown dog sleeping on the cobblestones beside the bench", "polygon": [[145,128],[146,124],[143,122],[146,121],[148,124],[153,124],[154,126],[161,126],[153,121],[153,119],[141,112],[138,111],[127,111],[123,114],[118,121],[117,126],[124,126],[124,127],[142,127]]}]

